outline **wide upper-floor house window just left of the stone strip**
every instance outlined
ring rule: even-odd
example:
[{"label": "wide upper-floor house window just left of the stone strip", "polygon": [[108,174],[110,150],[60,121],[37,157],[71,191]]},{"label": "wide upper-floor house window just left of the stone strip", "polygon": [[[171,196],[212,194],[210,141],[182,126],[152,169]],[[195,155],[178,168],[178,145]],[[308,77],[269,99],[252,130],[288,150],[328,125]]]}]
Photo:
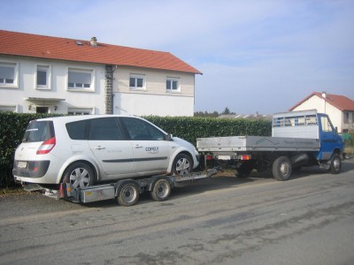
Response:
[{"label": "wide upper-floor house window just left of the stone strip", "polygon": [[75,90],[93,90],[93,73],[93,70],[69,68],[67,87]]}]

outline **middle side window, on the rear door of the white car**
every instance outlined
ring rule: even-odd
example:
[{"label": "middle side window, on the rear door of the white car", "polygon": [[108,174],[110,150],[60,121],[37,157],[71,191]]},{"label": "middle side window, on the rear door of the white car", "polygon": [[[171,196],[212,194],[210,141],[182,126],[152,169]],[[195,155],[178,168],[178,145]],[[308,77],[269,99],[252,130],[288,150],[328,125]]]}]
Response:
[{"label": "middle side window, on the rear door of the white car", "polygon": [[115,117],[99,117],[91,119],[89,140],[124,140]]}]

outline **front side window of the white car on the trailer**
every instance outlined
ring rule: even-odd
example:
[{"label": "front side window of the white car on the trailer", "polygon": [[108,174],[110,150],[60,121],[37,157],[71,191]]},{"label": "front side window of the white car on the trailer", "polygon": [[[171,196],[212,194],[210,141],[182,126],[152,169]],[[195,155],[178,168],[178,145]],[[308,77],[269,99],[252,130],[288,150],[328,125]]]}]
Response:
[{"label": "front side window of the white car on the trailer", "polygon": [[122,117],[131,140],[164,140],[165,133],[146,121],[135,117]]}]

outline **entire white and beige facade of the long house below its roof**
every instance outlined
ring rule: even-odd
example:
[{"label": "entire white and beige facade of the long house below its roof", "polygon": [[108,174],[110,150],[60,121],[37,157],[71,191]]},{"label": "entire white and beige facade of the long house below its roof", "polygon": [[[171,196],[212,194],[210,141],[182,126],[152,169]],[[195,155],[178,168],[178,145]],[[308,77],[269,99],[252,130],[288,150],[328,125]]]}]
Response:
[{"label": "entire white and beige facade of the long house below its roof", "polygon": [[[105,112],[104,64],[0,56],[1,65],[3,72],[7,66],[13,67],[14,79],[0,82],[0,110],[64,114]],[[112,114],[194,115],[194,73],[114,67]],[[82,80],[73,83],[70,72],[78,73]],[[41,78],[45,85],[38,84]],[[131,86],[133,81],[135,87]],[[79,84],[85,82],[89,84]]]}]

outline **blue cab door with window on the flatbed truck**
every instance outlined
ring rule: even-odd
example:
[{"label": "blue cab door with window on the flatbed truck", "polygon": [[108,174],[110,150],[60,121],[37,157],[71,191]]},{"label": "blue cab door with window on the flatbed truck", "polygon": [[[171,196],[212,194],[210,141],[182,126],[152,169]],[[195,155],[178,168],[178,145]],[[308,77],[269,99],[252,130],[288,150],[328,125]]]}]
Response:
[{"label": "blue cab door with window on the flatbed truck", "polygon": [[326,114],[319,114],[319,160],[329,160],[335,148],[342,149],[342,138],[335,131],[329,117]]}]

